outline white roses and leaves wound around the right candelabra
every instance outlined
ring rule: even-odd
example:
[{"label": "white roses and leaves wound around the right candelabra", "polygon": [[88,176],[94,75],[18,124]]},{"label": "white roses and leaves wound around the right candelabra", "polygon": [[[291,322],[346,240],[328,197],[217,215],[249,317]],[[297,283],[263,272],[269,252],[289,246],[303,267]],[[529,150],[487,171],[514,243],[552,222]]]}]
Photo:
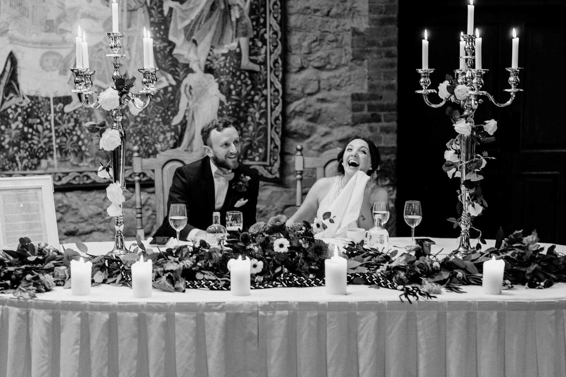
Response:
[{"label": "white roses and leaves wound around the right candelabra", "polygon": [[[470,88],[466,85],[458,84],[451,75],[446,75],[446,80],[438,86],[438,95],[441,99],[449,99],[452,102],[460,103],[470,94]],[[459,135],[470,136],[471,140],[479,145],[480,142],[490,143],[495,141],[493,137],[497,131],[497,122],[494,119],[486,120],[484,124],[476,125],[474,122],[474,112],[469,115],[461,115],[460,111],[448,107],[446,114],[450,116],[454,131]],[[447,150],[444,151],[444,165],[443,170],[448,175],[449,179],[460,178],[460,166],[467,164],[470,172],[466,175],[464,185],[470,190],[471,203],[468,205],[468,212],[472,219],[481,215],[484,207],[487,207],[487,202],[482,196],[482,190],[479,181],[483,176],[478,174],[487,164],[487,159],[494,159],[488,157],[487,152],[483,151],[482,154],[476,154],[470,161],[461,162],[461,149],[459,138],[453,138],[446,143]],[[458,192],[460,194],[460,192]],[[462,213],[462,203],[458,201],[457,207],[458,214]],[[461,218],[449,218],[448,221],[454,224],[454,228],[460,226]],[[474,228],[475,229],[475,228]],[[477,229],[476,229],[477,230]]]}]

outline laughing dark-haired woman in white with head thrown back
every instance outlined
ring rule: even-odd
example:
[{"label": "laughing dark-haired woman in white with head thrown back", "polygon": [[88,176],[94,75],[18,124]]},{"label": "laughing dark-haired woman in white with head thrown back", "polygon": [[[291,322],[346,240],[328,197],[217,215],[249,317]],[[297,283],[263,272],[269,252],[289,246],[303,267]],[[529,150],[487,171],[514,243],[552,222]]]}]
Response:
[{"label": "laughing dark-haired woman in white with head thrown back", "polygon": [[[379,167],[380,155],[378,147],[367,138],[354,137],[338,153],[337,159],[338,173],[340,175],[324,177],[316,181],[308,191],[301,207],[288,220],[288,226],[291,226],[294,222],[310,220],[315,215],[316,219],[320,220],[323,218],[324,213],[331,211],[333,208],[336,209],[341,203],[346,203],[346,206],[355,206],[355,209],[350,208],[350,211],[353,209],[354,214],[358,215],[355,220],[358,227],[367,230],[374,226],[372,218],[373,203],[388,201],[387,190],[379,187],[370,179],[371,175]],[[352,178],[354,180],[350,182]],[[345,192],[344,194],[346,195],[342,194],[340,197],[341,203],[336,202],[345,188],[349,188],[349,193],[352,193],[351,196]],[[358,192],[359,197],[357,204],[355,203],[356,200],[352,201],[351,199],[355,197],[356,192]],[[361,207],[359,202],[361,202]],[[339,211],[335,211],[335,214],[340,215]]]}]

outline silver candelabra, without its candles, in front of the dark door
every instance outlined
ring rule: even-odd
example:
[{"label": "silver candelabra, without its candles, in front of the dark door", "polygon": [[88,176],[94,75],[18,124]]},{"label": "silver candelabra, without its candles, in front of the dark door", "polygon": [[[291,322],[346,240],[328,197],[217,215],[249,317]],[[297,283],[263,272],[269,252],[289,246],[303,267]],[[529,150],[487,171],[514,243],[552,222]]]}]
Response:
[{"label": "silver candelabra, without its candles, in front of the dark door", "polygon": [[[499,103],[495,101],[495,98],[484,90],[481,90],[483,86],[483,75],[487,73],[488,70],[477,70],[472,68],[475,60],[475,36],[471,34],[466,34],[463,36],[465,41],[465,53],[466,55],[463,58],[465,61],[464,68],[460,70],[454,70],[456,74],[456,81],[458,85],[466,85],[470,89],[468,92],[468,96],[465,99],[458,100],[456,102],[460,103],[462,109],[464,109],[464,116],[468,116],[473,118],[474,111],[477,109],[478,105],[483,102],[483,99],[480,99],[480,96],[486,96],[490,99],[491,102],[494,103],[495,106],[505,107],[511,105],[513,100],[515,99],[517,92],[522,92],[523,89],[517,89],[517,85],[519,84],[519,70],[522,68],[505,68],[509,72],[509,80],[507,82],[511,85],[511,89],[504,89],[505,92],[509,92],[511,94],[511,98],[509,101],[505,103]],[[428,89],[428,86],[431,84],[430,81],[430,74],[434,72],[433,69],[422,69],[417,70],[418,73],[421,73],[421,80],[419,80],[419,84],[421,84],[421,90],[415,90],[415,93],[422,94],[424,102],[430,107],[441,107],[446,103],[448,98],[443,99],[442,102],[438,104],[431,103],[428,101],[428,94],[436,93],[434,89]],[[470,252],[471,245],[470,245],[470,227],[471,227],[471,218],[470,213],[468,211],[468,205],[471,202],[470,200],[470,192],[469,189],[465,187],[464,180],[466,179],[466,174],[472,171],[468,168],[468,164],[465,162],[471,161],[475,155],[475,143],[472,140],[471,136],[466,135],[459,135],[458,136],[460,142],[460,196],[458,199],[462,203],[462,217],[460,221],[460,245],[456,250],[457,253],[461,254],[468,254]]]}]

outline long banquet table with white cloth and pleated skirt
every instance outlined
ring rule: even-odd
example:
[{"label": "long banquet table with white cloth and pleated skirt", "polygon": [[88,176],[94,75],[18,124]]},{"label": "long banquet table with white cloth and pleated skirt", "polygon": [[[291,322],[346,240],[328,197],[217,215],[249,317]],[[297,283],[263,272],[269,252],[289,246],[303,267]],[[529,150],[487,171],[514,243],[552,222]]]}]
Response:
[{"label": "long banquet table with white cloth and pleated skirt", "polygon": [[[437,251],[456,245],[435,240]],[[500,296],[463,288],[413,304],[365,285],[346,296],[324,287],[248,297],[154,289],[137,299],[110,285],[89,296],[61,287],[36,300],[2,294],[0,377],[566,375],[566,284]]]}]

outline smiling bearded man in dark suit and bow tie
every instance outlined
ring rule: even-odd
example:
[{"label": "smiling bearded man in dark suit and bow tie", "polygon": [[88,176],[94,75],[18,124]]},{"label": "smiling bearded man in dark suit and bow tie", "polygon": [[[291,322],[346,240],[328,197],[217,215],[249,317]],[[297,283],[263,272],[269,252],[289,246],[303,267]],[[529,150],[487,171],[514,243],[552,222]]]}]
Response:
[{"label": "smiling bearded man in dark suit and bow tie", "polygon": [[[226,211],[241,211],[243,228],[255,223],[259,176],[239,164],[241,145],[237,129],[229,120],[212,120],[200,135],[206,157],[175,170],[169,190],[167,208],[171,204],[187,206],[187,226],[181,240],[204,236],[212,224],[212,213],[220,212],[220,223],[226,226]],[[168,216],[153,237],[177,237]]]}]

